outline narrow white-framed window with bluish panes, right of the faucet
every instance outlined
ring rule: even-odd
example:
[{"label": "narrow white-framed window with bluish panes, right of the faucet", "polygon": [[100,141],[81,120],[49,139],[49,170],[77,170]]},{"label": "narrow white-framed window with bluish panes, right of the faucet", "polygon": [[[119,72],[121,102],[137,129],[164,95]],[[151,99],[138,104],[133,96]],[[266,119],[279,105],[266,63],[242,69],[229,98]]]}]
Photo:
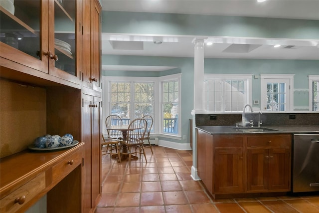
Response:
[{"label": "narrow white-framed window with bluish panes, right of the faucet", "polygon": [[261,107],[267,111],[293,109],[294,75],[261,75]]}]

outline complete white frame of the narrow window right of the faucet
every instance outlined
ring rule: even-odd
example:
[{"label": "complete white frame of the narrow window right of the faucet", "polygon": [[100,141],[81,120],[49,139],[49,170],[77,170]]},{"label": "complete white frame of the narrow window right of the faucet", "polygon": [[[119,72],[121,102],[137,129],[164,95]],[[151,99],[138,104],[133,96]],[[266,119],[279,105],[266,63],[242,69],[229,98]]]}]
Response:
[{"label": "complete white frame of the narrow window right of the faucet", "polygon": [[266,98],[267,97],[267,81],[271,82],[281,82],[287,83],[289,82],[288,92],[286,92],[286,109],[285,111],[271,111],[271,112],[288,112],[294,110],[294,76],[295,74],[260,74],[260,107],[262,111],[268,111],[265,106],[267,106]]}]

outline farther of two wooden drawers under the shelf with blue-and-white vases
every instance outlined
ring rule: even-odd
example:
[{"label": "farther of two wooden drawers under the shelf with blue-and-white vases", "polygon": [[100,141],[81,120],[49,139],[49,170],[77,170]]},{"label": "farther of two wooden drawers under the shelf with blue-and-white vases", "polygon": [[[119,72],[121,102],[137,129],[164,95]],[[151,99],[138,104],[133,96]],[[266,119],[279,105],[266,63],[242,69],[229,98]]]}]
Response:
[{"label": "farther of two wooden drawers under the shelf with blue-and-white vases", "polygon": [[70,172],[81,164],[80,150],[77,149],[73,154],[64,157],[58,164],[52,167],[52,180],[60,181]]}]

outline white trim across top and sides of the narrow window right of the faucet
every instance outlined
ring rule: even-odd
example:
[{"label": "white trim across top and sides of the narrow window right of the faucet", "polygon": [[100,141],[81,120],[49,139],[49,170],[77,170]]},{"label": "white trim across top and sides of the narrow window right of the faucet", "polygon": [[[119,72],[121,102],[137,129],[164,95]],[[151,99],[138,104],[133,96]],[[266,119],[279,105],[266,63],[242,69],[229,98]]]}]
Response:
[{"label": "white trim across top and sides of the narrow window right of the faucet", "polygon": [[[274,79],[274,80],[280,80],[285,79],[289,80],[289,103],[286,105],[285,111],[291,111],[294,109],[294,76],[295,74],[260,74],[260,99],[263,97],[263,94],[266,94],[266,88],[263,87],[263,85],[266,82],[266,79]],[[260,100],[260,104],[262,106],[263,100]],[[265,110],[262,108],[262,111]]]}]

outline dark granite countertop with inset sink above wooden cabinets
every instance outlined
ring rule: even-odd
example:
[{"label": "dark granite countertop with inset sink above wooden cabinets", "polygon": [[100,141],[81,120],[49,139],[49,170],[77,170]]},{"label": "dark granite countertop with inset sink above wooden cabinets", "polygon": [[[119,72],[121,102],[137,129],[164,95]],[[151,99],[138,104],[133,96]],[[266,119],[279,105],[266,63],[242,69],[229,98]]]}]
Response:
[{"label": "dark granite countertop with inset sink above wooden cabinets", "polygon": [[[319,133],[319,126],[262,126],[236,128],[234,126],[198,126],[200,129],[208,134],[265,134],[265,133]],[[244,129],[244,130],[241,130]],[[262,129],[260,132],[253,129]]]}]

